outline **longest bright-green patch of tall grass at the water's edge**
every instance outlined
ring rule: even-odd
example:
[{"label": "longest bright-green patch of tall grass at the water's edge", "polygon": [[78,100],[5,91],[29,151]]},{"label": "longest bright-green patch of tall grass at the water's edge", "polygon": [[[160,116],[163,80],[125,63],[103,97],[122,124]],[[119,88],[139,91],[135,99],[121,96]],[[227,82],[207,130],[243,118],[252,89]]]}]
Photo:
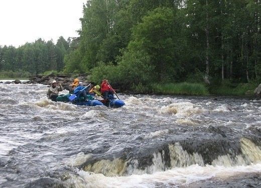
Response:
[{"label": "longest bright-green patch of tall grass at the water's edge", "polygon": [[208,95],[207,87],[202,83],[155,83],[152,89],[165,95]]}]

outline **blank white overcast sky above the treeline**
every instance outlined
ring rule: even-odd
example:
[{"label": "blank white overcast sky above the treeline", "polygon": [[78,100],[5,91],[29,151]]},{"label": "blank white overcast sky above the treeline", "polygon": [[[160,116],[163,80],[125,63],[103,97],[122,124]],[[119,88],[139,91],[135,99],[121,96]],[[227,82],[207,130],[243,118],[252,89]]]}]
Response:
[{"label": "blank white overcast sky above the treeline", "polygon": [[86,0],[0,0],[0,46],[78,37]]}]

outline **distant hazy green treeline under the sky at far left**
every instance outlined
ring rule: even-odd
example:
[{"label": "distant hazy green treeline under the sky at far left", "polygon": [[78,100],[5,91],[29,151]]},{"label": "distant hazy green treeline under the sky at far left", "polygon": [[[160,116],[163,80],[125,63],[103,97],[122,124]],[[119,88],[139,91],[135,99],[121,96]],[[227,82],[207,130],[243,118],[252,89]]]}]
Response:
[{"label": "distant hazy green treeline under the sky at far left", "polygon": [[[18,48],[0,46],[0,70],[23,70],[39,74],[47,70],[61,71],[64,68],[64,55],[67,53],[67,42],[60,37],[57,45],[41,38],[33,43],[26,43]],[[66,47],[66,48],[65,48]]]}]

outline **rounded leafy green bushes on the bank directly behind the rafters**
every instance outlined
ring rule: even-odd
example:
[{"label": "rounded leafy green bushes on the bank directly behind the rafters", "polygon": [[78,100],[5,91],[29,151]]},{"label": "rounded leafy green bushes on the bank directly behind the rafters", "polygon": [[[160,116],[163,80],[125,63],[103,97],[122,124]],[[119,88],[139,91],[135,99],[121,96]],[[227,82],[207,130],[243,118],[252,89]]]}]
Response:
[{"label": "rounded leafy green bushes on the bank directly behind the rafters", "polygon": [[148,84],[154,77],[152,74],[153,67],[149,63],[150,58],[145,52],[127,51],[118,61],[117,66],[100,62],[99,66],[91,70],[91,80],[100,82],[101,79],[106,78],[111,83],[129,89],[129,85]]}]

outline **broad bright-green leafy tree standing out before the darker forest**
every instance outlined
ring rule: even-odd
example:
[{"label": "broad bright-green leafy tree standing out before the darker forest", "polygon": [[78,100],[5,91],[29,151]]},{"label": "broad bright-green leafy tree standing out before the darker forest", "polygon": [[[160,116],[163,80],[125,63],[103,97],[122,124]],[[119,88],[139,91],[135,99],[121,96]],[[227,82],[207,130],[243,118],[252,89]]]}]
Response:
[{"label": "broad bright-green leafy tree standing out before the darker forest", "polygon": [[133,28],[133,41],[128,45],[132,51],[143,49],[150,59],[153,70],[158,80],[166,81],[175,78],[180,70],[177,60],[177,44],[175,35],[180,29],[175,24],[174,11],[169,8],[156,8],[149,12]]}]

